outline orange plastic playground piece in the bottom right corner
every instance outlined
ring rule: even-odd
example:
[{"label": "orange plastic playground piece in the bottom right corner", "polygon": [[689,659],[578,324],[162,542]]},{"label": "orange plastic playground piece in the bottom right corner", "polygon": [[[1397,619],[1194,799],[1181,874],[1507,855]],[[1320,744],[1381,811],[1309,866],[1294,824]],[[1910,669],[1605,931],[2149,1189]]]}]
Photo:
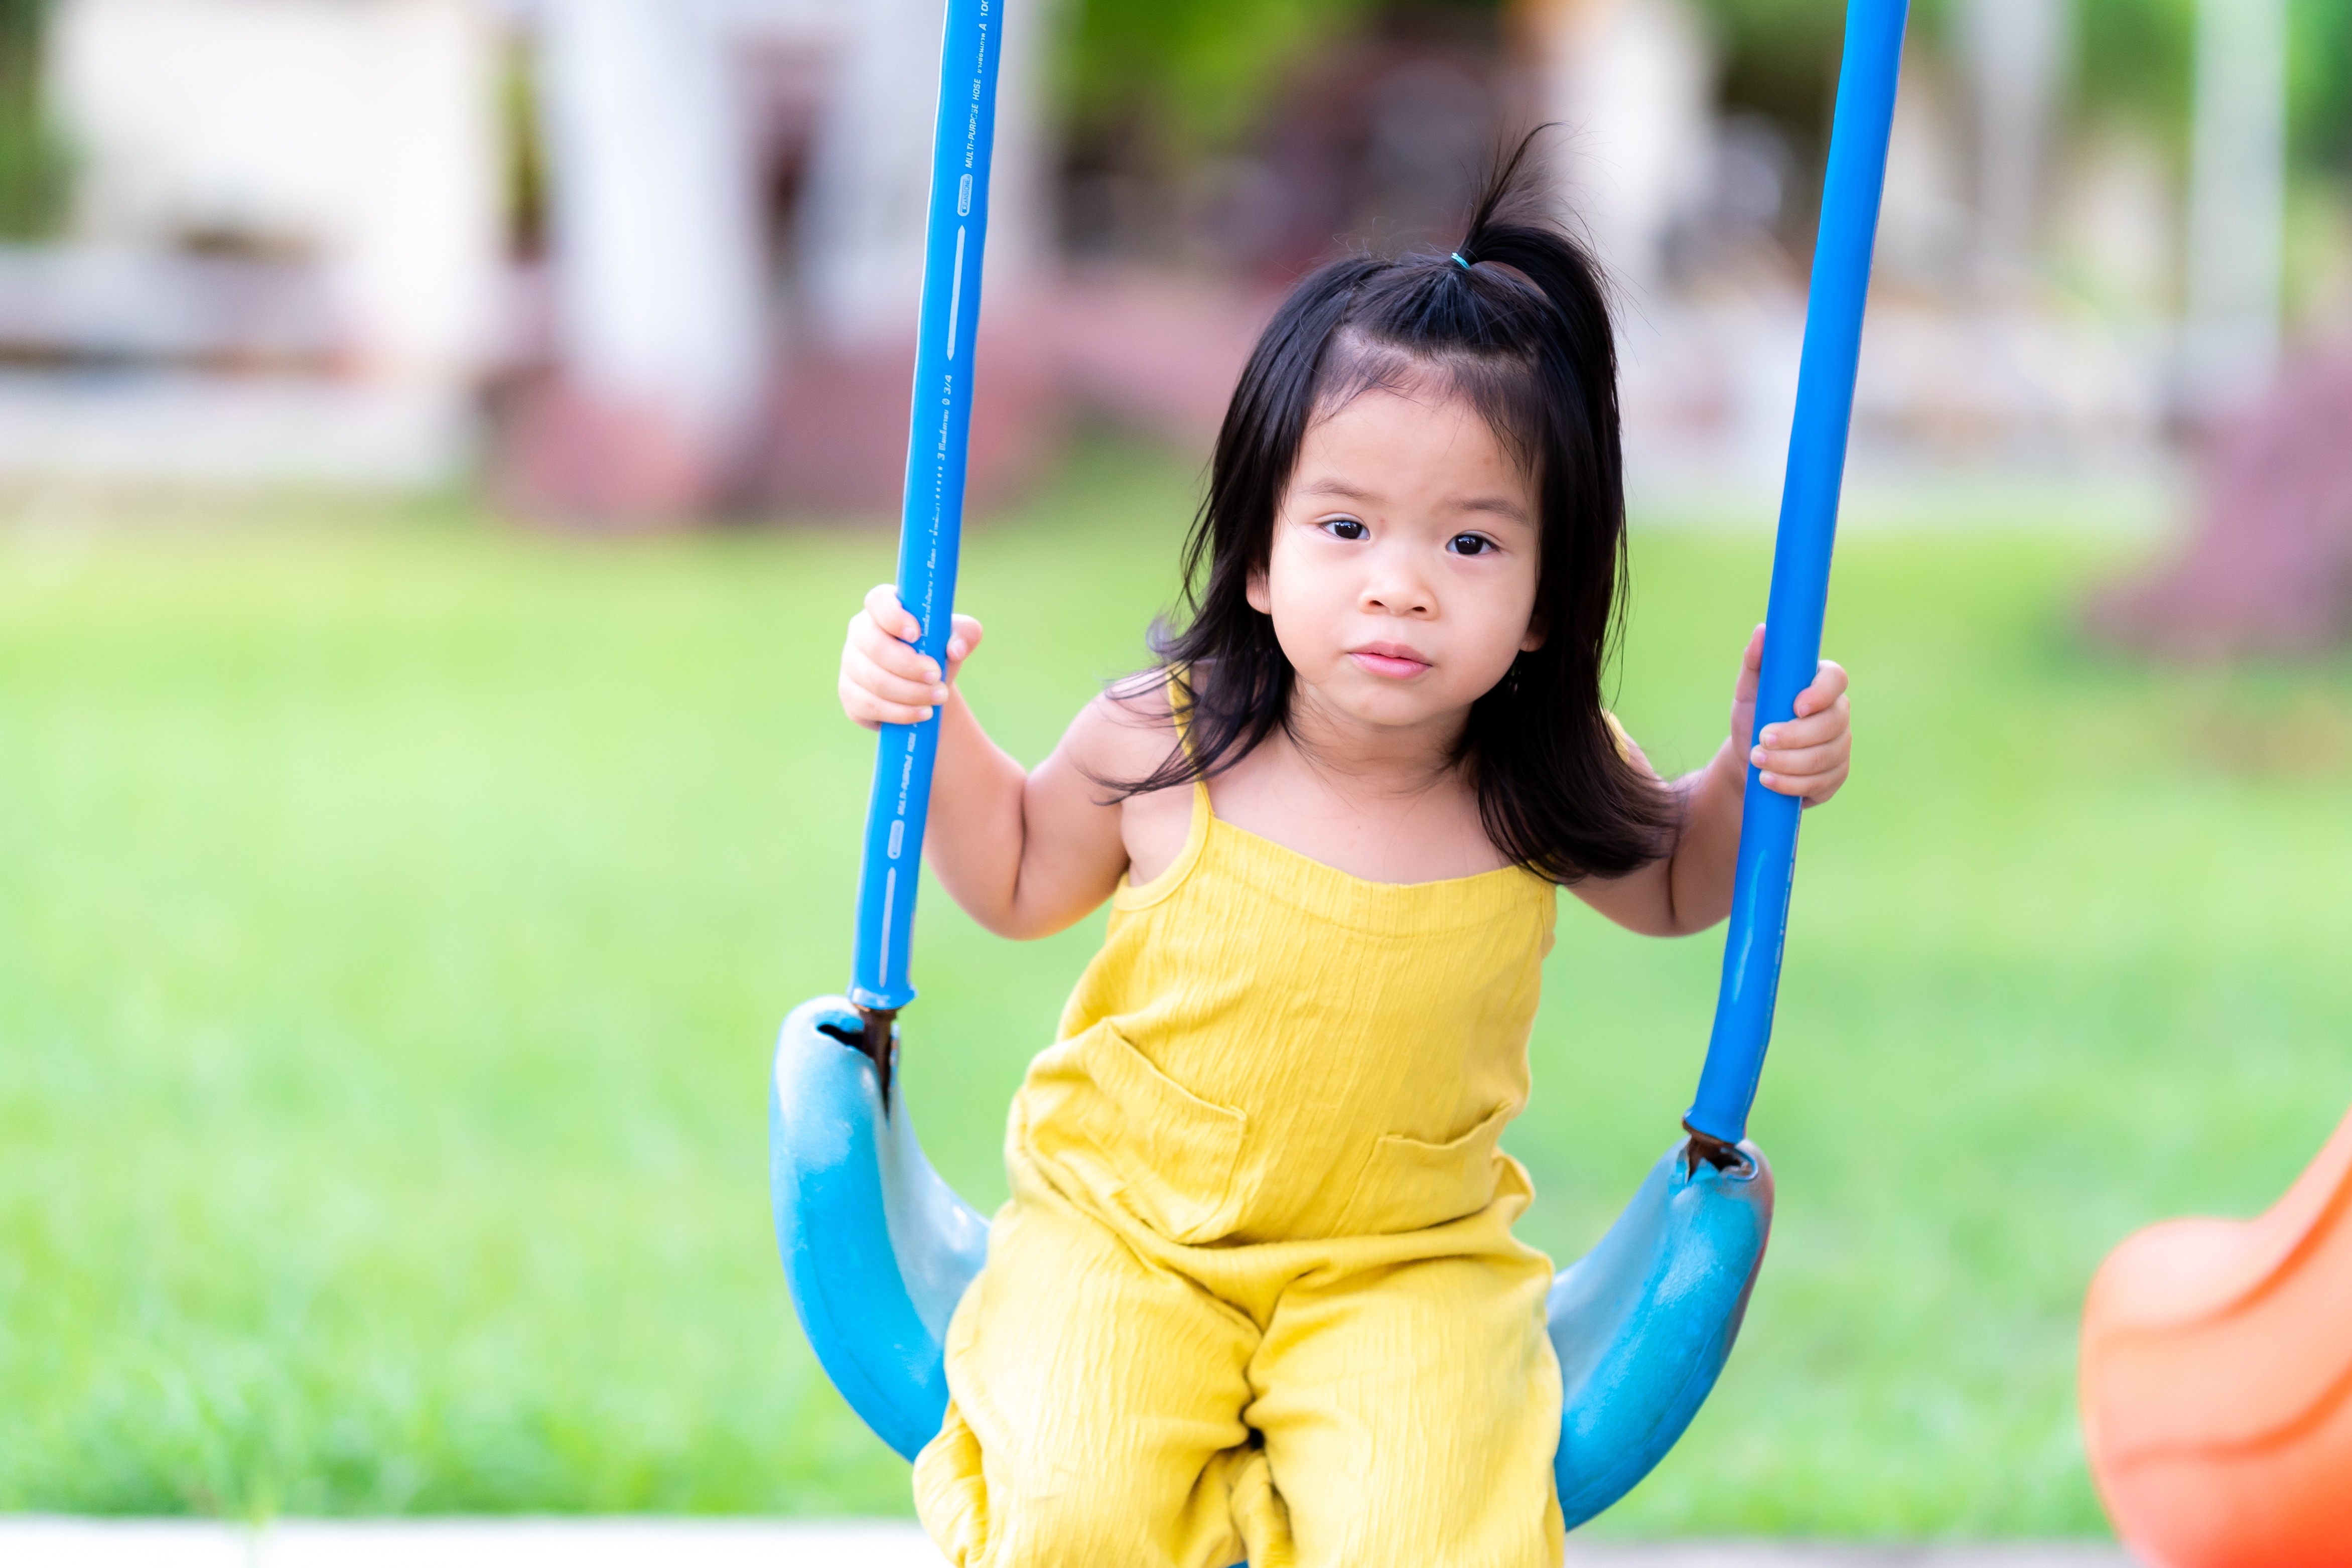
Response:
[{"label": "orange plastic playground piece in the bottom right corner", "polygon": [[2352,1568],[2352,1117],[2258,1220],[2114,1248],[2082,1314],[2082,1427],[2157,1568]]}]

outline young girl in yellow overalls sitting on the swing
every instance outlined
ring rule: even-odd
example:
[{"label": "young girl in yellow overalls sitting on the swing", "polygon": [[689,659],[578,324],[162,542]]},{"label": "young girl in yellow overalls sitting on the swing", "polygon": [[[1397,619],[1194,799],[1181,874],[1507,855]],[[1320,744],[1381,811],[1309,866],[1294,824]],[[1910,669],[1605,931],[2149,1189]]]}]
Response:
[{"label": "young girl in yellow overalls sitting on the swing", "polygon": [[1740,788],[1825,802],[1846,677],[1672,785],[1602,710],[1623,562],[1602,280],[1515,158],[1451,256],[1324,266],[1232,395],[1190,621],[1028,773],[875,588],[861,724],[943,708],[929,851],[990,931],[1105,898],[1028,1070],[1011,1201],[915,1465],[990,1568],[1550,1568],[1552,1265],[1512,1239],[1555,889],[1653,936],[1731,907]]}]

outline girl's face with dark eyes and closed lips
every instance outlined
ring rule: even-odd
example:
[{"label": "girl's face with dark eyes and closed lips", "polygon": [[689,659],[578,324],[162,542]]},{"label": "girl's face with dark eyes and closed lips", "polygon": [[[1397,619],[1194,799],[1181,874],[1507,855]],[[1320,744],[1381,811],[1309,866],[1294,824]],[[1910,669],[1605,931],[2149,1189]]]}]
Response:
[{"label": "girl's face with dark eyes and closed lips", "polygon": [[1449,393],[1371,390],[1317,418],[1249,602],[1334,717],[1458,724],[1534,625],[1536,487]]}]

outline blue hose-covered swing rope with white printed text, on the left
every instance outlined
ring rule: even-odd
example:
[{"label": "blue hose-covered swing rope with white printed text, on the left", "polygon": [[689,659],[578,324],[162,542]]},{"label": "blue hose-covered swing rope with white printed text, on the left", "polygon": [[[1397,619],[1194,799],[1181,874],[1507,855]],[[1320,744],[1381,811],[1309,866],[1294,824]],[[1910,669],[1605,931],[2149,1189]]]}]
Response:
[{"label": "blue hose-covered swing rope with white printed text, on the left", "polygon": [[[898,602],[922,623],[917,646],[948,668],[955,559],[964,529],[964,454],[971,444],[971,341],[981,320],[981,249],[988,240],[988,155],[997,134],[1002,0],[948,0],[931,136],[931,216],[924,230],[915,402],[908,418],[906,503],[898,515]],[[866,806],[858,872],[858,943],[849,999],[894,1013],[915,999],[908,940],[931,809],[938,715],[884,724]]]}]

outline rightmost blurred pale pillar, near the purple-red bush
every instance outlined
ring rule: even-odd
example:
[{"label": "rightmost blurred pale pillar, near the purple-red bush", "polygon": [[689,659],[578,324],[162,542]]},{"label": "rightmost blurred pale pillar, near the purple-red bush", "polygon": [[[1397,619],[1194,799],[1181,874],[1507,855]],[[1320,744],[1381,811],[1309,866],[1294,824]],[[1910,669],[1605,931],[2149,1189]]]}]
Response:
[{"label": "rightmost blurred pale pillar, near the purple-red bush", "polygon": [[2183,395],[2218,414],[2279,362],[2286,221],[2286,0],[2197,7],[2197,134]]}]

